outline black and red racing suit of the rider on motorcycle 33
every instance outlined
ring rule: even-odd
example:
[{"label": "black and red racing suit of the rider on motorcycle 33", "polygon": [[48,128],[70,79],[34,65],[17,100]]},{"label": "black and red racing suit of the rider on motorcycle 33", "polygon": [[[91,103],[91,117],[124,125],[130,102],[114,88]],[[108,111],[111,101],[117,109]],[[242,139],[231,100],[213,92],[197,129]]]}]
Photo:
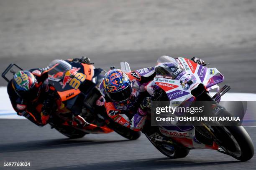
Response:
[{"label": "black and red racing suit of the rider on motorcycle 33", "polygon": [[[67,60],[69,62],[89,63],[87,57],[74,58]],[[38,96],[33,100],[25,100],[21,98],[14,90],[11,81],[8,83],[7,91],[15,112],[17,115],[24,116],[38,126],[47,124],[49,116],[54,112],[61,102],[58,93],[53,86],[48,85],[49,67],[36,68],[28,70],[31,72],[40,85]]]}]

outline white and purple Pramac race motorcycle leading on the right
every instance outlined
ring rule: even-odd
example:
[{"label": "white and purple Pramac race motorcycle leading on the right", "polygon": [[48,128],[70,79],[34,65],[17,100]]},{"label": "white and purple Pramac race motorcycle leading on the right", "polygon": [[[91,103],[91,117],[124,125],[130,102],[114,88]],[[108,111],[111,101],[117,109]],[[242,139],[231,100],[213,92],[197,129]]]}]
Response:
[{"label": "white and purple Pramac race motorcycle leading on the right", "polygon": [[[125,64],[127,67],[128,63]],[[155,71],[154,80],[146,85],[155,101],[211,101],[215,107],[221,107],[220,97],[230,89],[227,85],[219,88],[217,84],[223,82],[224,77],[216,68],[207,68],[206,64],[198,65],[183,57],[161,56]],[[213,97],[209,94],[212,89],[217,89]],[[201,123],[200,126],[152,126],[149,120],[142,132],[169,158],[186,157],[191,149],[217,150],[241,161],[253,157],[253,142],[243,126],[227,126],[218,121],[213,122],[216,126]]]}]

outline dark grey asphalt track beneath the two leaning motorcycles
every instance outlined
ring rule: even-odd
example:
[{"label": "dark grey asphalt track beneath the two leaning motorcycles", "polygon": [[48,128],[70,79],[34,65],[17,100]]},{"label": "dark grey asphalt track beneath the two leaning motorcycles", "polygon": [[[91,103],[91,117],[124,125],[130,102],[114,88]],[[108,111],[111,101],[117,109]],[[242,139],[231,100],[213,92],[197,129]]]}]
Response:
[{"label": "dark grey asphalt track beneath the two leaning motorcycles", "polygon": [[[256,144],[255,127],[246,127]],[[130,141],[116,133],[86,135],[70,140],[49,126],[38,128],[27,120],[0,120],[0,168],[3,162],[30,162],[44,170],[253,170],[256,157],[241,163],[214,150],[191,150],[186,158],[169,160],[146,139]],[[15,169],[15,168],[5,168]]]}]

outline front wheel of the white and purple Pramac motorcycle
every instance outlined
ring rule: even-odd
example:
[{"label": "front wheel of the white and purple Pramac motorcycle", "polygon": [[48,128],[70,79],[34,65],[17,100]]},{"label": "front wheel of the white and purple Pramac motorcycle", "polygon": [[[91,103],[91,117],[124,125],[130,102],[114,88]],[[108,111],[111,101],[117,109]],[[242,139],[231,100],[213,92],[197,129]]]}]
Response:
[{"label": "front wheel of the white and purple Pramac motorcycle", "polygon": [[214,135],[228,155],[237,160],[247,161],[254,155],[253,142],[243,126],[215,126]]}]

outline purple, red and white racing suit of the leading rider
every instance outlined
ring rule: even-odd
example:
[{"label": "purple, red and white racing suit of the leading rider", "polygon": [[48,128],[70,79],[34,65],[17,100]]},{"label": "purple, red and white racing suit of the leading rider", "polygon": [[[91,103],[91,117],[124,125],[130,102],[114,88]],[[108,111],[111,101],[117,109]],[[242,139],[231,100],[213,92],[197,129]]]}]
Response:
[{"label": "purple, red and white racing suit of the leading rider", "polygon": [[140,107],[140,104],[151,96],[145,88],[148,82],[154,79],[156,73],[154,67],[148,67],[128,72],[127,75],[132,82],[132,97],[127,105],[120,105],[110,100],[108,95],[105,94],[103,83],[99,87],[104,96],[104,105],[108,116],[120,125],[139,131],[146,121],[147,114]]}]

